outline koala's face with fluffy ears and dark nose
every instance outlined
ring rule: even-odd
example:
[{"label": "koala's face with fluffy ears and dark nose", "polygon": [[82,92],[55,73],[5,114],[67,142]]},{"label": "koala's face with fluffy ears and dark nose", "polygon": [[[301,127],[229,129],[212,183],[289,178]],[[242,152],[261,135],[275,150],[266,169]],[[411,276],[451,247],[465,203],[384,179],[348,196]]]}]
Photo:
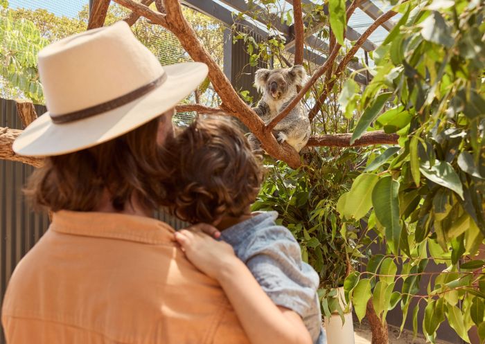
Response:
[{"label": "koala's face with fluffy ears and dark nose", "polygon": [[270,96],[273,100],[280,100],[294,93],[297,86],[303,86],[306,78],[303,66],[280,69],[258,69],[254,84],[258,91]]}]

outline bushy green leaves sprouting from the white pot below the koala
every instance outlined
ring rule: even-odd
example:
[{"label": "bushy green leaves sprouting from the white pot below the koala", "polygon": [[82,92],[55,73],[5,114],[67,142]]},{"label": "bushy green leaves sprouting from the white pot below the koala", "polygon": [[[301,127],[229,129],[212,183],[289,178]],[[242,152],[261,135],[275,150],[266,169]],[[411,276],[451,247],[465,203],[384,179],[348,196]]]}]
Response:
[{"label": "bushy green leaves sprouting from the white pot below the koala", "polygon": [[303,260],[319,273],[322,311],[342,314],[335,288],[344,284],[347,271],[357,262],[362,246],[357,230],[342,221],[335,208],[340,195],[355,178],[355,165],[365,160],[359,150],[321,148],[307,154],[311,161],[299,170],[283,162],[267,165],[267,178],[253,210],[279,212],[279,223],[288,227],[301,245]]}]

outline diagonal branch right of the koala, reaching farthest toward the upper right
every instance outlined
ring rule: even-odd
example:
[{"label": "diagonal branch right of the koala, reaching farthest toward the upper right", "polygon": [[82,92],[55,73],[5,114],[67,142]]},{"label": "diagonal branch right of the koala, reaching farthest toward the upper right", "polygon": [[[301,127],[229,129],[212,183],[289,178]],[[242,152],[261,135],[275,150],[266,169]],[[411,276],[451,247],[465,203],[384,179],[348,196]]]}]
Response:
[{"label": "diagonal branch right of the koala, reaching farthest toward the upper right", "polygon": [[340,61],[339,66],[337,66],[337,69],[335,70],[335,78],[330,80],[330,82],[325,84],[324,90],[321,92],[320,98],[317,100],[315,103],[314,107],[310,110],[308,113],[308,118],[310,118],[310,121],[317,116],[318,111],[321,109],[321,106],[324,104],[328,93],[332,90],[333,85],[335,84],[335,81],[337,80],[338,76],[342,74],[342,72],[345,70],[347,64],[351,62],[352,57],[355,55],[355,53],[358,52],[359,48],[364,44],[366,39],[382,24],[385,23],[389,18],[394,17],[397,15],[397,12],[394,12],[393,10],[390,10],[388,12],[385,12],[383,15],[378,17],[376,21],[365,30],[364,33],[362,33],[362,36],[355,42],[354,46],[349,50],[348,53],[346,53],[345,57]]}]

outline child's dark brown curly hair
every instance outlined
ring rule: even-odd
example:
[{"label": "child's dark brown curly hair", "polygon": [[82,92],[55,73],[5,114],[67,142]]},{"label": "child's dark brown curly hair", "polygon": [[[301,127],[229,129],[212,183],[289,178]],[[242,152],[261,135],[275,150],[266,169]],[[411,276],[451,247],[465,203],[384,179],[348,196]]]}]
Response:
[{"label": "child's dark brown curly hair", "polygon": [[224,118],[197,119],[166,142],[168,165],[162,206],[191,223],[239,217],[263,182],[261,157],[240,130]]}]

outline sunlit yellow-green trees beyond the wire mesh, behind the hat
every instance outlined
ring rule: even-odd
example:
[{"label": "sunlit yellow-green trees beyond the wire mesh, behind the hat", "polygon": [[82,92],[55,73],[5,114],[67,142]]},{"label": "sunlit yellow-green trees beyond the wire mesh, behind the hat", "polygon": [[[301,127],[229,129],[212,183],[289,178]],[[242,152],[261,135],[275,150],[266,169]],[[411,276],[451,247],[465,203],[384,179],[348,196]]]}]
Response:
[{"label": "sunlit yellow-green trees beyond the wire mesh, behind the hat", "polygon": [[[37,73],[37,53],[47,44],[59,39],[81,33],[86,30],[89,18],[88,6],[84,6],[77,17],[57,16],[42,8],[30,10],[25,8],[8,8],[8,3],[1,12],[0,34],[5,46],[0,51],[3,66],[0,75],[5,81],[4,93],[30,98],[35,103],[44,103],[42,87]],[[130,15],[130,10],[112,4],[107,12],[105,25]],[[200,12],[184,8],[184,16],[195,28],[197,35],[211,51],[214,60],[222,66],[223,61],[223,26],[218,21]],[[136,37],[152,51],[161,64],[174,64],[190,60],[179,41],[168,30],[149,24],[146,19],[139,19],[132,26]],[[201,93],[201,102],[214,106],[217,95],[209,84]]]}]

